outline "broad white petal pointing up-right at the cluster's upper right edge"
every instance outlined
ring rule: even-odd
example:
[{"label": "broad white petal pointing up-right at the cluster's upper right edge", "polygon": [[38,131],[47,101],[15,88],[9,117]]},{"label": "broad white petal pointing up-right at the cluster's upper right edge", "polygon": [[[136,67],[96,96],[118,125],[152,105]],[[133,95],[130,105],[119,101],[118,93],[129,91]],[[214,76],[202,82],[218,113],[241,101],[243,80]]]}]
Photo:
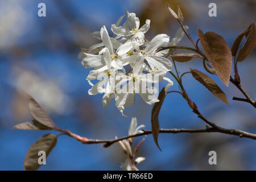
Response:
[{"label": "broad white petal pointing up-right at the cluster's upper right edge", "polygon": [[153,54],[156,49],[167,44],[169,40],[170,37],[168,35],[158,34],[150,41],[150,43],[148,43],[148,46],[144,49],[144,51]]}]

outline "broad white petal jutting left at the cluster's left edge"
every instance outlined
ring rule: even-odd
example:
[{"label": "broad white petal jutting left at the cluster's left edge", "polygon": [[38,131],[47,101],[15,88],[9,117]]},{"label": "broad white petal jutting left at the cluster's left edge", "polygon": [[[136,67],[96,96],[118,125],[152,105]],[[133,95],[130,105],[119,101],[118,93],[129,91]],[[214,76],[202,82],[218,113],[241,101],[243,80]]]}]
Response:
[{"label": "broad white petal jutting left at the cluster's left edge", "polygon": [[82,59],[82,65],[85,68],[100,67],[105,65],[105,61],[103,57],[99,55],[86,56]]}]

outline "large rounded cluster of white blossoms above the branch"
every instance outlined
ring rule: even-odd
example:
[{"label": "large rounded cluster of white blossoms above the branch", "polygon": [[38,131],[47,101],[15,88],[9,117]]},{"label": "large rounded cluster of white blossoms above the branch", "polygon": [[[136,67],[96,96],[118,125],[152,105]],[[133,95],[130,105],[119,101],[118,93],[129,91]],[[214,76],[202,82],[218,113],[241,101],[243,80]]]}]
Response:
[{"label": "large rounded cluster of white blossoms above the branch", "polygon": [[[126,21],[121,26],[125,17]],[[155,96],[158,92],[155,85],[158,82],[168,81],[167,88],[173,85],[169,78],[164,77],[172,67],[171,61],[163,57],[168,50],[157,50],[164,46],[175,46],[184,33],[178,30],[171,42],[166,34],[156,35],[148,41],[144,34],[149,28],[149,19],[140,28],[139,18],[126,11],[117,23],[112,24],[113,37],[109,36],[103,26],[100,31],[92,33],[92,36],[102,43],[82,49],[79,53],[82,65],[94,68],[86,78],[92,86],[88,93],[104,93],[102,103],[105,107],[114,98],[115,105],[123,114],[125,107],[134,104],[135,93],[139,93],[142,99],[151,105],[159,101]],[[99,81],[93,84],[91,80]]]}]

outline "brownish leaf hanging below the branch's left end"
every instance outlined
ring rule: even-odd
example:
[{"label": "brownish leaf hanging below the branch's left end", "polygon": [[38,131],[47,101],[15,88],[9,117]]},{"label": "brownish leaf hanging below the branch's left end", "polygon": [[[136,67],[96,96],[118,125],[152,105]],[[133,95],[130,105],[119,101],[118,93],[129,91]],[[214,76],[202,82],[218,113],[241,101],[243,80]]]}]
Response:
[{"label": "brownish leaf hanging below the branch's left end", "polygon": [[27,154],[24,159],[24,170],[32,171],[40,167],[38,163],[39,151],[46,152],[46,157],[52,151],[57,143],[57,137],[53,134],[46,134],[37,140],[32,146],[28,149]]}]

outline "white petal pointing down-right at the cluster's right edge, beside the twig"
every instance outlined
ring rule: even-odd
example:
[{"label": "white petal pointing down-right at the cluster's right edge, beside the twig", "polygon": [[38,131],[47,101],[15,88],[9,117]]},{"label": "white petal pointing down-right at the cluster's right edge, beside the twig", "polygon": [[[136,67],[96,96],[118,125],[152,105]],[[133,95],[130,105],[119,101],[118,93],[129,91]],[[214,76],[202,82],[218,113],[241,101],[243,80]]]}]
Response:
[{"label": "white petal pointing down-right at the cluster's right edge, beside the twig", "polygon": [[150,67],[153,66],[163,71],[170,71],[172,68],[172,63],[170,60],[160,57],[160,56],[146,56],[145,57]]}]

